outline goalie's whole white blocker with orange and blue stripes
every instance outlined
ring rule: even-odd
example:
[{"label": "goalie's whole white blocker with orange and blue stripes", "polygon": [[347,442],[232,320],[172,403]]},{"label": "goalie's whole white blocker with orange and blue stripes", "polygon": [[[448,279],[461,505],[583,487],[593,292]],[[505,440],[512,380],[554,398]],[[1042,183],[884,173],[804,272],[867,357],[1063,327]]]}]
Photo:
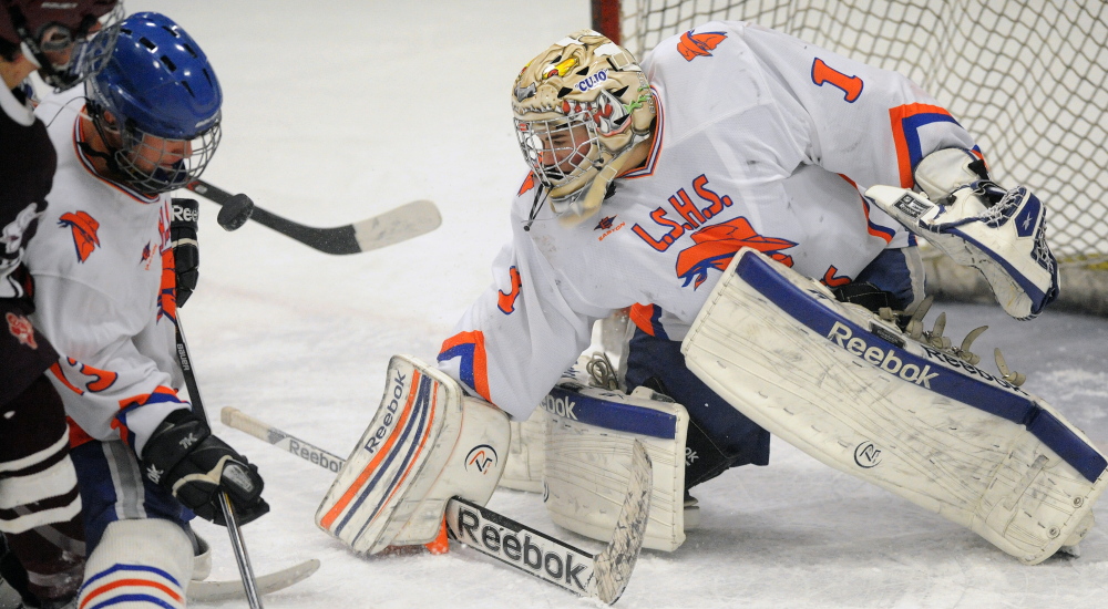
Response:
[{"label": "goalie's whole white blocker with orange and blue stripes", "polygon": [[410,355],[389,362],[384,395],[316,512],[357,551],[435,539],[451,497],[484,505],[509,445],[509,419]]}]

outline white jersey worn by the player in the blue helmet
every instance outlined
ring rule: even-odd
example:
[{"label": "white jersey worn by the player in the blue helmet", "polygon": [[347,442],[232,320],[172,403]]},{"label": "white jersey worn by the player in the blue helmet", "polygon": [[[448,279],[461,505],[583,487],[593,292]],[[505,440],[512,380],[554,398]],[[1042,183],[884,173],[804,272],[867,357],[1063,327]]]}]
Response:
[{"label": "white jersey worn by the player in the blue helmet", "polygon": [[32,320],[61,354],[50,376],[65,413],[88,436],[122,438],[142,454],[157,424],[188,407],[177,395],[170,196],[93,172],[79,145],[82,93],[51,95],[35,111],[50,125],[58,172],[27,252]]}]

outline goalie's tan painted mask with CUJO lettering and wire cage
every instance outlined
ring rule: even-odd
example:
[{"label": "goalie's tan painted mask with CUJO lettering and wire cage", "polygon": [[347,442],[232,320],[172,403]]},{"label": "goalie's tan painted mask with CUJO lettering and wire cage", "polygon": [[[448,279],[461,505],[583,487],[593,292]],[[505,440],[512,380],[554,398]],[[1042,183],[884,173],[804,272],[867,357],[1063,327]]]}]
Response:
[{"label": "goalie's tan painted mask with CUJO lettering and wire cage", "polygon": [[563,218],[595,213],[632,149],[650,137],[654,99],[626,49],[581,30],[533,59],[512,90],[520,148]]}]

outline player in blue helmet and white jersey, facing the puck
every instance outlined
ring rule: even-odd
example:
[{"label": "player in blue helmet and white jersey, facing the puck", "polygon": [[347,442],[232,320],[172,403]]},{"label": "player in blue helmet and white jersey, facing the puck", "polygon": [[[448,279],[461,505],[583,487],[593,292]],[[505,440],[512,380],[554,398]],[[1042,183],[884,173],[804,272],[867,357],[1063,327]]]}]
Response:
[{"label": "player in blue helmet and white jersey, facing the puck", "polygon": [[37,110],[59,165],[28,249],[32,319],[62,353],[51,380],[74,422],[89,547],[81,605],[179,608],[192,513],[224,524],[220,492],[242,523],[268,506],[257,468],[178,393],[174,358],[176,275],[191,269],[174,256],[168,193],[218,145],[219,83],[165,16],[133,14],[120,32],[84,95],[60,93]]}]

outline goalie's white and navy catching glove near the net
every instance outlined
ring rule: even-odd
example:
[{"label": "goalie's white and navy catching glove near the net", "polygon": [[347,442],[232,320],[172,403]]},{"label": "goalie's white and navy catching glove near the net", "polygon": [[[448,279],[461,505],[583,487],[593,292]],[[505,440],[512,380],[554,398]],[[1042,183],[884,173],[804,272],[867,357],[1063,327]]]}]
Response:
[{"label": "goalie's white and navy catching glove near the net", "polygon": [[1023,186],[986,208],[982,185],[975,182],[955,190],[948,205],[892,186],[873,186],[865,196],[955,262],[981,271],[1009,316],[1034,318],[1058,297],[1058,262],[1046,242],[1046,208]]}]

